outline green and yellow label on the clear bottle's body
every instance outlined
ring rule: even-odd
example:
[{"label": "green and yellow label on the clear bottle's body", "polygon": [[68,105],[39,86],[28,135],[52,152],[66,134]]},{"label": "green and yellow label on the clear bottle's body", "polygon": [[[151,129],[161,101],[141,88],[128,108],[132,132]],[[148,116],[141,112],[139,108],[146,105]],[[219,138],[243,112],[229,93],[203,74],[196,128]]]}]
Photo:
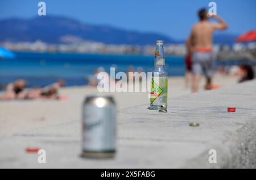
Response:
[{"label": "green and yellow label on the clear bottle's body", "polygon": [[167,104],[167,77],[152,77],[150,103],[153,104],[158,99],[159,104]]}]

